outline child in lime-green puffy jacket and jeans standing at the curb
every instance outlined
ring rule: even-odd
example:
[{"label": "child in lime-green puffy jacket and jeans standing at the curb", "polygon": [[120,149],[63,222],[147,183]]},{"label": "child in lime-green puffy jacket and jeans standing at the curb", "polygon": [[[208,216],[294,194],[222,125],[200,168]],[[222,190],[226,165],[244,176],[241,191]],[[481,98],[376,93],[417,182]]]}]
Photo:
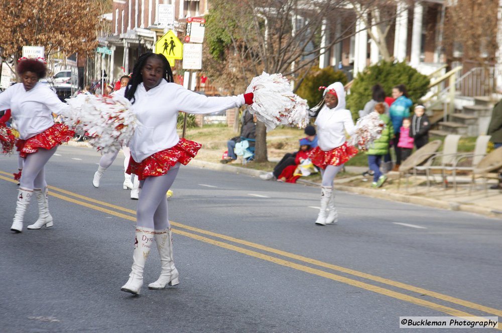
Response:
[{"label": "child in lime-green puffy jacket and jeans standing at the curb", "polygon": [[385,114],[385,106],[383,103],[376,104],[374,112],[377,112],[380,120],[385,123],[382,136],[376,139],[371,148],[366,151],[369,169],[373,171],[373,182],[371,183],[371,187],[376,188],[381,187],[387,180],[387,176],[380,171],[380,163],[384,155],[389,153],[389,141],[391,141],[394,135],[394,127],[391,118]]}]

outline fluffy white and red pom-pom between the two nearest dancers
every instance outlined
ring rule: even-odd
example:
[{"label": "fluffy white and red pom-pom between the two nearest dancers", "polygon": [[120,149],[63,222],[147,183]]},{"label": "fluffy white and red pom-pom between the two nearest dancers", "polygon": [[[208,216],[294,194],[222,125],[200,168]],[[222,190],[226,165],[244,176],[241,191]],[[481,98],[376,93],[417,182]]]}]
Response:
[{"label": "fluffy white and red pom-pom between the two nearest dancers", "polygon": [[77,133],[88,133],[89,144],[103,153],[118,151],[129,142],[136,128],[131,102],[119,94],[81,94],[66,100],[71,107],[65,121]]}]

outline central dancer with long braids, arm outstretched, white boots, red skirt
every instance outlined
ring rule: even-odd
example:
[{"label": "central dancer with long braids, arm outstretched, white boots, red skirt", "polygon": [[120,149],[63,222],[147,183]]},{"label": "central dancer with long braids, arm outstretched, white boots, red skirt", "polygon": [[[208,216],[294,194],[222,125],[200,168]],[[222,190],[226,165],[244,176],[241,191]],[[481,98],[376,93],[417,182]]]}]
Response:
[{"label": "central dancer with long braids, arm outstretched, white boots, red skirt", "polygon": [[[153,242],[161,257],[161,274],[150,289],[179,283],[174,265],[172,233],[166,192],[173,184],[180,164],[188,164],[200,144],[180,138],[176,132],[178,111],[212,113],[253,103],[253,94],[206,97],[173,83],[167,59],[158,54],[143,54],[134,67],[125,97],[133,104],[138,127],[130,143],[131,160],[127,172],[141,182],[133,265],[122,291],[137,294],[143,285],[143,269]],[[155,102],[155,103],[154,103]]]}]

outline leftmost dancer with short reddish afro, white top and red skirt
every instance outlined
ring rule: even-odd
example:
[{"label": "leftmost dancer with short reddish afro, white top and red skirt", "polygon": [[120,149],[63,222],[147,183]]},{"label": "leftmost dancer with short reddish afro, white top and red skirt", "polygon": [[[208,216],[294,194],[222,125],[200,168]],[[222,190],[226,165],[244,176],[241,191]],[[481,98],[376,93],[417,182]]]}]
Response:
[{"label": "leftmost dancer with short reddish afro, white top and red skirt", "polygon": [[19,140],[17,147],[25,159],[19,187],[16,214],[11,226],[14,232],[23,231],[26,208],[35,192],[38,201],[39,218],[28,229],[53,226],[47,200],[45,165],[56,152],[57,146],[73,138],[73,131],[65,125],[55,124],[52,113],[61,114],[69,106],[45,84],[39,83],[47,73],[42,59],[22,58],[17,72],[23,84],[17,84],[0,94],[0,109],[11,109]]}]

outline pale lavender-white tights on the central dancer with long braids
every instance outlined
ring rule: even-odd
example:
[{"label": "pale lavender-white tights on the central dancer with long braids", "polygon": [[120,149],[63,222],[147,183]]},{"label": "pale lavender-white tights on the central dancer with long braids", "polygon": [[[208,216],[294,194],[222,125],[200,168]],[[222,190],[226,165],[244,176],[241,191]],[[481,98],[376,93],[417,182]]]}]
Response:
[{"label": "pale lavender-white tights on the central dancer with long braids", "polygon": [[141,194],[136,213],[137,226],[155,230],[169,229],[166,192],[173,185],[179,168],[180,164],[177,163],[165,175],[150,176],[140,181]]}]

